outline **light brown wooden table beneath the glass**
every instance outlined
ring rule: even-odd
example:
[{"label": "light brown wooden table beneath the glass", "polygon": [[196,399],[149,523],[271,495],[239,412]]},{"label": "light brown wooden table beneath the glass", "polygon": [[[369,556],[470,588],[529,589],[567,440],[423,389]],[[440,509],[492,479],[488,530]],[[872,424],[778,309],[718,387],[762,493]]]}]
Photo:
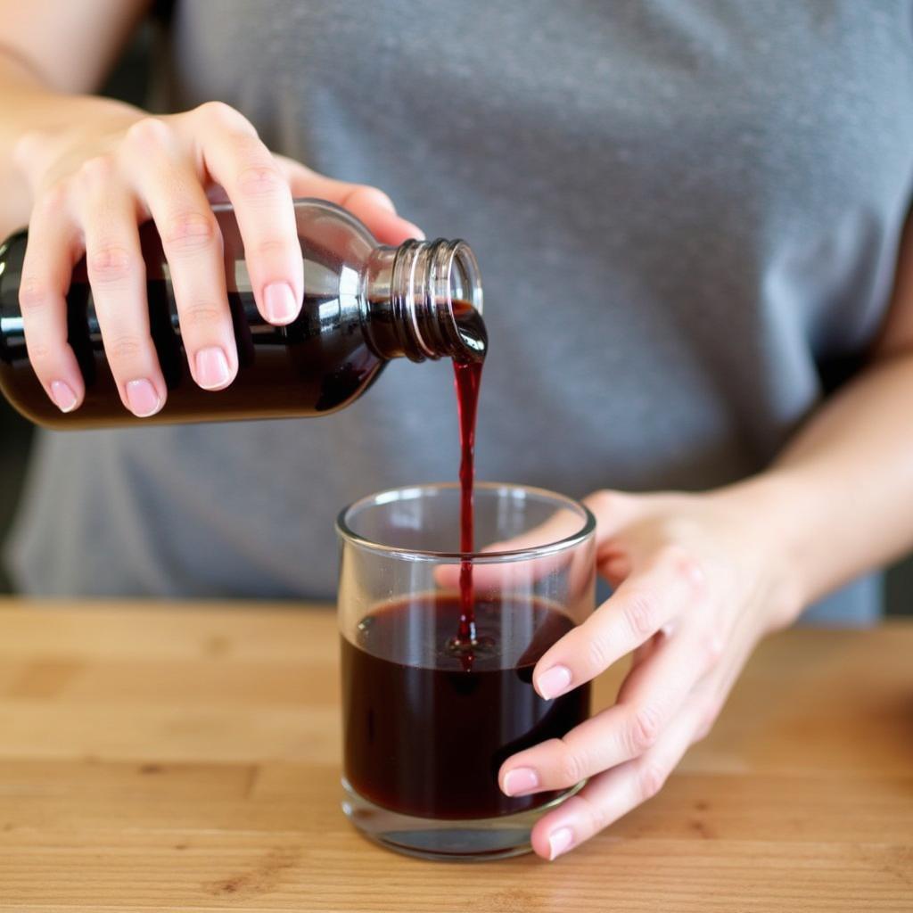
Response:
[{"label": "light brown wooden table beneath the glass", "polygon": [[913,910],[913,624],[774,637],[666,789],[551,865],[356,834],[337,675],[327,610],[0,602],[0,910]]}]

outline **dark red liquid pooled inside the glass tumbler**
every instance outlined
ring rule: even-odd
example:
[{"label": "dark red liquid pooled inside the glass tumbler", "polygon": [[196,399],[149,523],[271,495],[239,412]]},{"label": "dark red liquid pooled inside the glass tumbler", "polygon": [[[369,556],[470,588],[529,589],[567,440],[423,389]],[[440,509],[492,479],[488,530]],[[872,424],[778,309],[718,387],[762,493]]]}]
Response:
[{"label": "dark red liquid pooled inside the glass tumbler", "polygon": [[342,638],[346,777],[371,802],[428,818],[549,803],[557,792],[504,795],[498,768],[586,719],[589,686],[551,701],[532,687],[536,661],[572,621],[537,600],[479,600],[467,669],[451,646],[460,611],[455,594],[416,595],[368,614],[355,643]]}]

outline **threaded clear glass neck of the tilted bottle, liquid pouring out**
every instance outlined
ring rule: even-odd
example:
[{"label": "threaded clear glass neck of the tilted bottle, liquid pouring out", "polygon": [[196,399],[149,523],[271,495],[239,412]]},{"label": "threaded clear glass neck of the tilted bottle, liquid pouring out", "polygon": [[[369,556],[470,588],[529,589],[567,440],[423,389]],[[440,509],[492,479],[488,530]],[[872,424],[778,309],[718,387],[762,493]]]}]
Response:
[{"label": "threaded clear glass neck of the tilted bottle, liquid pouring out", "polygon": [[465,241],[375,248],[362,300],[364,329],[381,358],[472,362],[485,357],[481,279]]}]

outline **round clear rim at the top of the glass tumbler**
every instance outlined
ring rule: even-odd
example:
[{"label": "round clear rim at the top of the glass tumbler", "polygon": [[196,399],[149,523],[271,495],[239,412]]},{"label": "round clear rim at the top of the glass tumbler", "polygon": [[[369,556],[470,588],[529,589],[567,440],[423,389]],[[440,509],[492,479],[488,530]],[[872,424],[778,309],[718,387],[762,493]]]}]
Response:
[{"label": "round clear rim at the top of the glass tumbler", "polygon": [[336,532],[342,540],[357,545],[362,549],[374,551],[378,554],[387,554],[396,558],[402,558],[406,561],[440,561],[456,562],[472,559],[474,564],[497,564],[506,561],[527,561],[541,558],[546,555],[553,555],[557,552],[567,551],[579,545],[588,539],[596,530],[596,518],[593,511],[576,498],[568,495],[561,495],[557,491],[550,491],[548,488],[537,488],[533,485],[520,485],[515,482],[477,482],[476,490],[485,491],[519,491],[537,495],[555,502],[556,509],[571,508],[578,512],[582,511],[581,527],[572,532],[570,535],[562,536],[551,542],[544,542],[541,545],[526,547],[522,549],[499,549],[498,551],[433,551],[431,549],[404,549],[395,545],[384,545],[383,542],[375,542],[367,539],[360,533],[352,530],[348,518],[352,512],[362,509],[369,505],[383,505],[396,500],[412,499],[420,496],[425,492],[437,492],[445,490],[459,491],[459,482],[428,482],[419,485],[404,485],[398,488],[385,488],[383,491],[377,491],[373,495],[365,495],[347,505],[336,516]]}]

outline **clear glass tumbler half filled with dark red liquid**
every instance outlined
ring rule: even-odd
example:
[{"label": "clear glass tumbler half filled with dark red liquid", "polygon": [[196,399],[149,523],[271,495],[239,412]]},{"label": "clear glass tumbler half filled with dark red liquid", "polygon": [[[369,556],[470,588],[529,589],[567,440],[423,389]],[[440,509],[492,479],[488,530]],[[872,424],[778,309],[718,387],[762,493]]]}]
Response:
[{"label": "clear glass tumbler half filled with dark red liquid", "polygon": [[[573,792],[509,797],[498,769],[589,714],[589,686],[543,700],[532,671],[593,611],[595,520],[549,491],[477,484],[477,551],[463,554],[459,496],[398,488],[337,521],[342,808],[402,853],[478,860],[527,852],[532,825]],[[457,633],[463,561],[471,643]]]}]

